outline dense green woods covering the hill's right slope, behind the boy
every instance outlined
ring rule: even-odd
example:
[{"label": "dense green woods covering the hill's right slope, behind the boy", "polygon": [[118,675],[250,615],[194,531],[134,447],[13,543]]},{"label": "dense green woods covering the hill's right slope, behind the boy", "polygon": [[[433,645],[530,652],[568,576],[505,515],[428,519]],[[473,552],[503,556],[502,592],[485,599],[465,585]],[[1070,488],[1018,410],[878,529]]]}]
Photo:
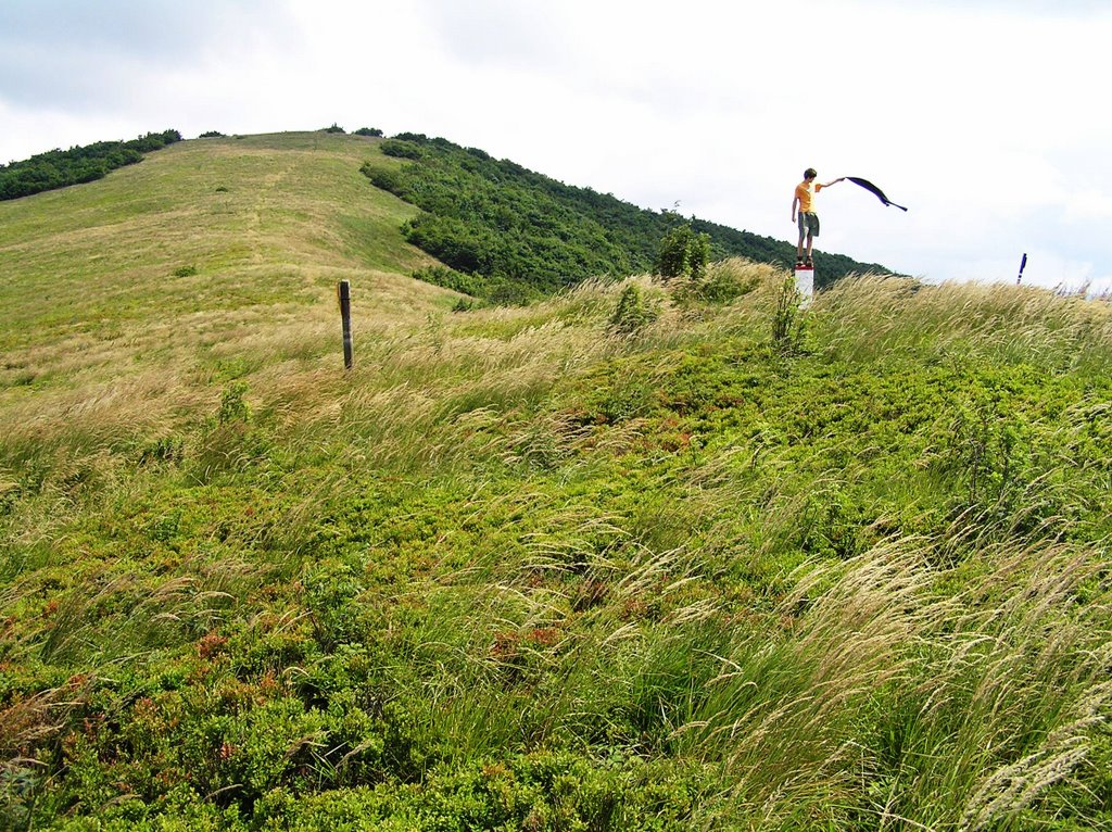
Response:
[{"label": "dense green woods covering the hill's right slope, behind the boy", "polygon": [[[525,296],[593,277],[653,271],[662,266],[662,239],[674,230],[671,212],[570,187],[446,139],[399,133],[381,150],[407,164],[385,167],[371,160],[364,172],[375,187],[423,209],[406,224],[406,238],[456,271],[499,286],[517,283]],[[696,218],[688,227],[695,240],[706,235],[708,258],[743,256],[786,266],[794,255],[781,240]],[[840,255],[816,258],[822,285],[850,273],[884,271]]]}]

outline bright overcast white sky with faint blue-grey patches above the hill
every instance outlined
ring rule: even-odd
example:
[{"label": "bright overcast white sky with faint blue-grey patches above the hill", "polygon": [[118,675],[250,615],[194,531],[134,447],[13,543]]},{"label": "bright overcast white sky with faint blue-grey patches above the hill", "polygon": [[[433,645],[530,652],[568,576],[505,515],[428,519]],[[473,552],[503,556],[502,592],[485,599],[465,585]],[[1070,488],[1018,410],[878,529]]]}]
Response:
[{"label": "bright overcast white sky with faint blue-grey patches above the hill", "polygon": [[[1112,290],[1112,0],[0,0],[0,162],[338,123],[930,280]],[[2,229],[0,229],[2,234]]]}]

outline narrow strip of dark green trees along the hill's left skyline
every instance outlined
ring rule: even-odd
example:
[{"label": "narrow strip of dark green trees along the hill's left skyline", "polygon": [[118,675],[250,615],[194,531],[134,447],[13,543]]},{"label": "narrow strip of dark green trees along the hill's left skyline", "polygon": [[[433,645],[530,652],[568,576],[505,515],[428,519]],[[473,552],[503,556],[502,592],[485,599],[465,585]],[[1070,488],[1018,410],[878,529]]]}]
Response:
[{"label": "narrow strip of dark green trees along the hill's left skyline", "polygon": [[18,199],[44,190],[91,182],[116,168],[135,165],[142,160],[143,153],[160,150],[175,141],[181,141],[181,133],[165,130],[130,141],[98,141],[0,165],[0,199]]}]

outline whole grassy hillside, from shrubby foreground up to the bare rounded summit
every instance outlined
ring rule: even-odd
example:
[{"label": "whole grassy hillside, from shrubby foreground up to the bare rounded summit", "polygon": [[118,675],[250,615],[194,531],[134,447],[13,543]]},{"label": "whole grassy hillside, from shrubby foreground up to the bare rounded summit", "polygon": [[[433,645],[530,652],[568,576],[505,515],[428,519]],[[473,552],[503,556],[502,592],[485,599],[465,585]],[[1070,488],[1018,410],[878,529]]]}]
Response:
[{"label": "whole grassy hillside, from shrubby foreground up to the bare rounded summit", "polygon": [[4,828],[1112,824],[1106,303],[453,311],[379,153],[0,204]]}]

